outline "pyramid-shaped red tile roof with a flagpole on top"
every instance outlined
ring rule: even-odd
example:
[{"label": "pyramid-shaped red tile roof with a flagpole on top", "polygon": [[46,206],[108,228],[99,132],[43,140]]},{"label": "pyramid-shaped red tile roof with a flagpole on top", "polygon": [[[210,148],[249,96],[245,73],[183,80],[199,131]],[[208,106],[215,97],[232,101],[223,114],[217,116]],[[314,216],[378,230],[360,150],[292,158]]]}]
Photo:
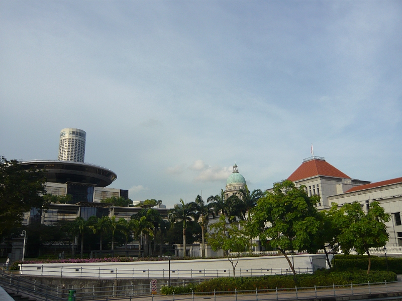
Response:
[{"label": "pyramid-shaped red tile roof with a flagpole on top", "polygon": [[287,180],[294,182],[319,175],[350,179],[349,176],[345,175],[325,160],[313,159],[303,162]]}]

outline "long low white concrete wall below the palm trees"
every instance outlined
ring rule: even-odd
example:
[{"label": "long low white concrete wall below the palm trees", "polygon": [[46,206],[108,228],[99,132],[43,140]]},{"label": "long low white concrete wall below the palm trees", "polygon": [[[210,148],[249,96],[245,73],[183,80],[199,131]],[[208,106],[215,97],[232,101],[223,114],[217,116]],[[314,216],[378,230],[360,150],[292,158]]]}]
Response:
[{"label": "long low white concrete wall below the palm trees", "polygon": [[[236,263],[236,259],[235,259]],[[313,272],[327,268],[325,254],[304,254],[294,256],[294,266],[300,272]],[[47,263],[20,264],[21,275],[76,278],[168,278],[169,262],[102,262],[102,263]],[[236,274],[242,276],[290,273],[284,256],[263,256],[239,258]],[[172,278],[202,278],[233,276],[232,264],[226,258],[171,260]]]}]

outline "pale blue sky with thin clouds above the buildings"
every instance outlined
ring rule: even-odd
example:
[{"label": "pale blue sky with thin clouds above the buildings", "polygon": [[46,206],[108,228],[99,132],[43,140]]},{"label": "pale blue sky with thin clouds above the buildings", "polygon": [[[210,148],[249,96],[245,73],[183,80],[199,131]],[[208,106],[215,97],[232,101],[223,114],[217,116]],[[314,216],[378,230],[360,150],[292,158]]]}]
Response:
[{"label": "pale blue sky with thin clouds above the buildings", "polygon": [[0,0],[0,156],[85,162],[133,200],[269,189],[314,155],[402,177],[400,1]]}]

